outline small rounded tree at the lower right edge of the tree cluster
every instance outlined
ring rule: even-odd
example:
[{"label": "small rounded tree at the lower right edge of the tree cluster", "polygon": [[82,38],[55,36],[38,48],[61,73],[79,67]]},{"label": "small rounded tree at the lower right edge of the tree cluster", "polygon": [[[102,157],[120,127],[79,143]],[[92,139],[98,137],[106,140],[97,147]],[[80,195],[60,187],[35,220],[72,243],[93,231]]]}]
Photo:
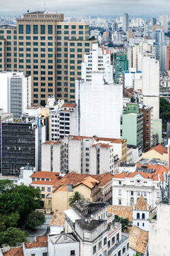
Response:
[{"label": "small rounded tree at the lower right edge of the tree cluster", "polygon": [[45,223],[45,215],[38,211],[32,211],[26,220],[26,228],[35,230],[35,228]]}]

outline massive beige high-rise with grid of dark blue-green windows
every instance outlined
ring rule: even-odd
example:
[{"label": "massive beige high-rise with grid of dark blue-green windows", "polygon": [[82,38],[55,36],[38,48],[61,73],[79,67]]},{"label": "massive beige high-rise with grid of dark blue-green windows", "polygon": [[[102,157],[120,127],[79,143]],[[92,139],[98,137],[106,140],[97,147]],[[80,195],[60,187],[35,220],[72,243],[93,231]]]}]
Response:
[{"label": "massive beige high-rise with grid of dark blue-green windows", "polygon": [[31,75],[33,105],[45,105],[48,95],[74,102],[92,43],[89,23],[64,22],[63,14],[46,11],[23,14],[17,26],[0,26],[0,71]]}]

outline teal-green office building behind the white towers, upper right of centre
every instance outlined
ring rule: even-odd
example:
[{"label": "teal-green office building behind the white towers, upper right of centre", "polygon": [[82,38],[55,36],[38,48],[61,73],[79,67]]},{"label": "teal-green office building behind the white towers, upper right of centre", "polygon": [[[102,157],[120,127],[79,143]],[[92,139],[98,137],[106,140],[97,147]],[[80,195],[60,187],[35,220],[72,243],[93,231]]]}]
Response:
[{"label": "teal-green office building behind the white towers, upper right of centre", "polygon": [[114,82],[119,83],[120,75],[128,70],[128,55],[125,53],[114,54]]}]

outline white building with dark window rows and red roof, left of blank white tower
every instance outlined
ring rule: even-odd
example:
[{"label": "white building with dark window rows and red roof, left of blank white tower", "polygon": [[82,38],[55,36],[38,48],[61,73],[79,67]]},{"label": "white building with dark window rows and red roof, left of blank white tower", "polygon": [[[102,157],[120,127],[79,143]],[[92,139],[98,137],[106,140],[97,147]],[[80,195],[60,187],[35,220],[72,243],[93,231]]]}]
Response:
[{"label": "white building with dark window rows and red roof, left of blank white tower", "polygon": [[50,140],[56,142],[69,134],[77,134],[77,105],[62,100],[50,110]]}]

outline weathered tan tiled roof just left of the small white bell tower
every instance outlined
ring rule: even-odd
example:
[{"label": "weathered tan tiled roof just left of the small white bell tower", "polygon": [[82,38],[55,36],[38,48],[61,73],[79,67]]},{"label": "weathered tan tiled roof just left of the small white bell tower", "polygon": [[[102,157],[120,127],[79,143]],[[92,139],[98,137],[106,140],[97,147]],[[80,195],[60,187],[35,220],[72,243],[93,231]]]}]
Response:
[{"label": "weathered tan tiled roof just left of the small white bell tower", "polygon": [[114,213],[120,218],[128,218],[132,222],[132,206],[108,206],[108,213]]}]

